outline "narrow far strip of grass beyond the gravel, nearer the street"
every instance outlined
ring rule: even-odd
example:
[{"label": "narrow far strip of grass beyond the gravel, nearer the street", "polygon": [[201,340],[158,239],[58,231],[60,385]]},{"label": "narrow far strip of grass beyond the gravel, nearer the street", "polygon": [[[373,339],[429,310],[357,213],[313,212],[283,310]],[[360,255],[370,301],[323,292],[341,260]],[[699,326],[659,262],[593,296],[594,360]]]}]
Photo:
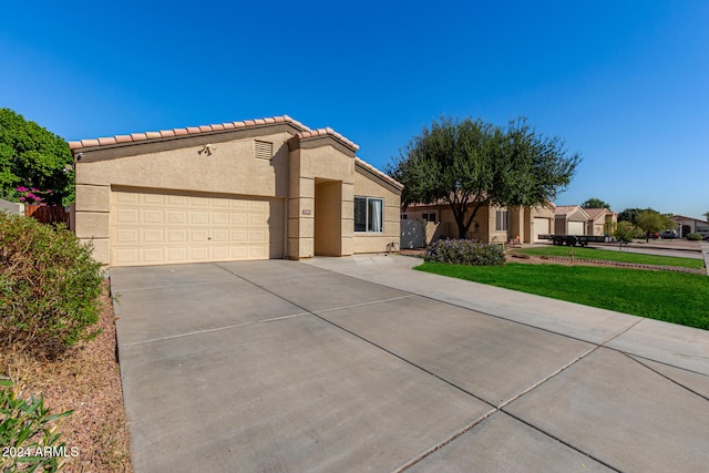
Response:
[{"label": "narrow far strip of grass beyond the gravel, nearer the street", "polygon": [[[567,246],[549,246],[544,248],[517,249],[518,253],[536,256],[569,256]],[[576,259],[602,259],[605,261],[633,263],[637,265],[680,266],[682,268],[701,269],[703,259],[679,258],[675,256],[643,255],[629,251],[613,251],[608,249],[574,247]]]}]

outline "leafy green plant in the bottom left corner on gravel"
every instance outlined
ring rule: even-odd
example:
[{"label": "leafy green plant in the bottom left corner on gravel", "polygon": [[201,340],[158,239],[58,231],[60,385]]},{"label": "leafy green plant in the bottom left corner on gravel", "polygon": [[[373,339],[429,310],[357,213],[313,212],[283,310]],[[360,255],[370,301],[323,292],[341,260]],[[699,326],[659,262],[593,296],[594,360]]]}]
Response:
[{"label": "leafy green plant in the bottom left corner on gravel", "polygon": [[59,441],[56,421],[73,411],[51,414],[44,399],[21,399],[18,385],[0,378],[0,469],[3,472],[56,472],[79,454]]}]

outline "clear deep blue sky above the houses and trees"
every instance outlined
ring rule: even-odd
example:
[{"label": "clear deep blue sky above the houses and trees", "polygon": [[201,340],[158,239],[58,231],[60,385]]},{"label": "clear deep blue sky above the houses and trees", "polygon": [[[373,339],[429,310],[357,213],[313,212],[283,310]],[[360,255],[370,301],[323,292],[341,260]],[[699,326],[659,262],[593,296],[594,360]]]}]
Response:
[{"label": "clear deep blue sky above the houses and trees", "polygon": [[383,168],[442,115],[526,116],[584,161],[557,204],[709,212],[709,2],[34,1],[0,106],[68,141],[275,115]]}]

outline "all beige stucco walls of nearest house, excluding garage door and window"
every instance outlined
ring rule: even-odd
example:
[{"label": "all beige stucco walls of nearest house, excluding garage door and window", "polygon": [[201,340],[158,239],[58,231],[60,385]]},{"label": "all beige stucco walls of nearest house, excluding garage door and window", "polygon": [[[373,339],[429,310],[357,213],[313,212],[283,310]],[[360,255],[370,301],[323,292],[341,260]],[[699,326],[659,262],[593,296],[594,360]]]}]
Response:
[{"label": "all beige stucco walls of nearest house, excluding garage door and window", "polygon": [[[97,260],[110,263],[112,189],[133,188],[284,198],[286,256],[295,259],[384,251],[389,243],[398,243],[400,191],[381,176],[356,173],[357,146],[330,132],[285,128],[155,140],[146,135],[138,142],[92,141],[75,148],[76,236],[93,243]],[[257,141],[273,144],[270,158],[258,153]],[[210,150],[206,144],[213,144]],[[356,193],[384,198],[382,235],[354,238]],[[316,200],[322,217],[318,222]]]}]

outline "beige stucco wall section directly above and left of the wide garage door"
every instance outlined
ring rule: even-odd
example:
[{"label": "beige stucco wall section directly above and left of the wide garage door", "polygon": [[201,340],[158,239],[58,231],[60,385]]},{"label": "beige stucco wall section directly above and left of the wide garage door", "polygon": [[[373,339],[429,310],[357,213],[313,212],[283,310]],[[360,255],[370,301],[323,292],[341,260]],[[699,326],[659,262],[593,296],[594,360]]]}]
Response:
[{"label": "beige stucco wall section directly above and left of the wide garage door", "polygon": [[270,160],[256,157],[254,137],[218,142],[210,154],[208,136],[189,138],[185,147],[166,141],[85,151],[76,162],[76,237],[93,244],[96,260],[110,261],[112,186],[286,197],[290,136],[256,138],[273,143]]}]

